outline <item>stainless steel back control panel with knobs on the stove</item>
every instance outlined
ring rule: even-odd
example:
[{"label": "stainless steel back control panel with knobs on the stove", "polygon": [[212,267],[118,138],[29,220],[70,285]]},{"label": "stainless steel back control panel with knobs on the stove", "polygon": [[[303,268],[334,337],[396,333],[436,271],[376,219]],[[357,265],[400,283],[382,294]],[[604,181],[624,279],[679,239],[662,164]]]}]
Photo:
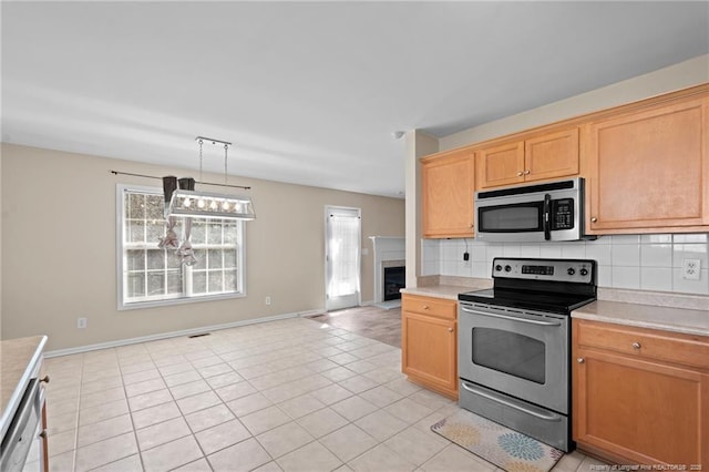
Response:
[{"label": "stainless steel back control panel with knobs on the stove", "polygon": [[494,278],[573,281],[593,284],[596,261],[589,259],[527,259],[496,257],[492,263]]}]

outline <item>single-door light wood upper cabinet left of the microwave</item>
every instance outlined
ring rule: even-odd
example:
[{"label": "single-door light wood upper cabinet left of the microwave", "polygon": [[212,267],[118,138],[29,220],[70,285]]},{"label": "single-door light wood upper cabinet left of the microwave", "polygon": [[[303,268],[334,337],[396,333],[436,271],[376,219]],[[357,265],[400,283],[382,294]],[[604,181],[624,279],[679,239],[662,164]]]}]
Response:
[{"label": "single-door light wood upper cabinet left of the microwave", "polygon": [[474,154],[458,150],[422,163],[423,237],[472,237]]}]

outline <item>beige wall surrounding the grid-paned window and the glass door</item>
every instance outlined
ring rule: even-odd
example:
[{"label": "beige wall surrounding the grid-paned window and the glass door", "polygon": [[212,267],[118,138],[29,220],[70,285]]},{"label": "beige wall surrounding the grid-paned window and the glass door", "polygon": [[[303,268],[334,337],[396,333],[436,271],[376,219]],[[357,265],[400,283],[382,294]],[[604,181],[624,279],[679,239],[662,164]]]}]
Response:
[{"label": "beige wall surrounding the grid-paned window and the glass door", "polygon": [[[119,311],[114,176],[196,172],[2,145],[2,339],[49,335],[66,349],[325,307],[325,206],[362,209],[362,301],[373,299],[369,236],[403,236],[404,201],[268,181],[251,185],[257,219],[246,224],[247,297]],[[222,182],[222,175],[205,181]],[[269,295],[273,305],[264,300]],[[78,329],[76,318],[88,328]]]}]

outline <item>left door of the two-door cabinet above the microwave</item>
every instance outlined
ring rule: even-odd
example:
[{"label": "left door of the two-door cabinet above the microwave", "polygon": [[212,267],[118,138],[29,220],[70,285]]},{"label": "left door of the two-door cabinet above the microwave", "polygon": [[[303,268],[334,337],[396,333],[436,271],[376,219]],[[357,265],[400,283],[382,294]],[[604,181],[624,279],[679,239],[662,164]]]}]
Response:
[{"label": "left door of the two-door cabinet above the microwave", "polygon": [[524,142],[479,150],[477,166],[480,188],[524,182]]}]

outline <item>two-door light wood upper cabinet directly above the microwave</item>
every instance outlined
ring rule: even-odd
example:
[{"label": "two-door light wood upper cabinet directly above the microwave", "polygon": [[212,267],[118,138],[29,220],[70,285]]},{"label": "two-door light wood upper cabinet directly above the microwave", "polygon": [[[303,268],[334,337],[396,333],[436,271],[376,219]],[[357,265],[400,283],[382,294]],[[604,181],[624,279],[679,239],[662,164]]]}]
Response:
[{"label": "two-door light wood upper cabinet directly above the microwave", "polygon": [[578,127],[477,150],[480,188],[578,174]]}]

